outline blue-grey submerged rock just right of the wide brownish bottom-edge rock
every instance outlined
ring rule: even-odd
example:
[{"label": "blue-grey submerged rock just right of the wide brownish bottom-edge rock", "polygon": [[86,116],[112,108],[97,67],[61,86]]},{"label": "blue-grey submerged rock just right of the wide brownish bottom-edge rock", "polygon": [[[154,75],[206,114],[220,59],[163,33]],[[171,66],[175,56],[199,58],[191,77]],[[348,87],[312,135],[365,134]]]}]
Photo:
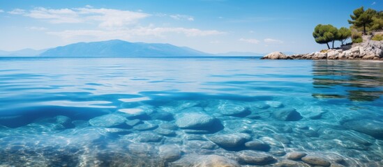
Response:
[{"label": "blue-grey submerged rock just right of the wide brownish bottom-edge rock", "polygon": [[250,164],[250,165],[266,165],[272,164],[276,159],[271,155],[264,152],[256,152],[253,150],[243,150],[237,152],[239,157],[240,164]]}]

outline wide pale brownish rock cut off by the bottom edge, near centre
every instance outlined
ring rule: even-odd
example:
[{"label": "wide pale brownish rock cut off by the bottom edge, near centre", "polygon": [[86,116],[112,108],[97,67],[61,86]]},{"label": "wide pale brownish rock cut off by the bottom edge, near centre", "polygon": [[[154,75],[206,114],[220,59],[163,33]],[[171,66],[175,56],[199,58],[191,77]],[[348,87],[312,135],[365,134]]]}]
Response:
[{"label": "wide pale brownish rock cut off by the bottom edge, near centre", "polygon": [[188,155],[175,161],[170,166],[188,167],[239,167],[238,162],[216,154],[210,155]]}]

